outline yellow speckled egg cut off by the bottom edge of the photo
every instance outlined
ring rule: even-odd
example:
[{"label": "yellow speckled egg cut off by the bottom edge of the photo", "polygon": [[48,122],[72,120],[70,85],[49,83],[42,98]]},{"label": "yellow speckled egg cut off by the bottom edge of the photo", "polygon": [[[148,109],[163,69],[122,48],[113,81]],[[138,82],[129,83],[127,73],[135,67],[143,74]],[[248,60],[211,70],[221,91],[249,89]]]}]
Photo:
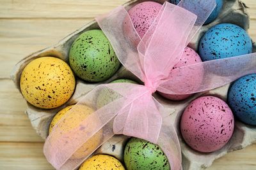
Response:
[{"label": "yellow speckled egg cut off by the bottom edge of the photo", "polygon": [[109,155],[94,155],[84,161],[79,170],[125,170],[121,162]]}]

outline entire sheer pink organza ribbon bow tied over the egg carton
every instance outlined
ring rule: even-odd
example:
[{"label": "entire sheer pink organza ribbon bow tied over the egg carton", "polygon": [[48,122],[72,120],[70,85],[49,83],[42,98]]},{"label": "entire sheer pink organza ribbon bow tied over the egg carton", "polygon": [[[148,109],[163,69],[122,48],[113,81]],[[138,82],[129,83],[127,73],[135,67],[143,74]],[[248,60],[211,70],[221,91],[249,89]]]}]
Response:
[{"label": "entire sheer pink organza ribbon bow tied over the egg carton", "polygon": [[[111,83],[86,94],[45,141],[45,157],[52,166],[75,169],[113,135],[125,134],[156,143],[168,157],[171,169],[180,169],[175,128],[152,93],[193,94],[256,73],[255,53],[172,70],[215,5],[214,0],[180,1],[178,6],[164,3],[142,39],[122,6],[97,18],[120,62],[145,85]],[[195,82],[195,76],[202,76],[202,81]],[[83,111],[77,111],[81,105],[94,112],[84,117]]]}]

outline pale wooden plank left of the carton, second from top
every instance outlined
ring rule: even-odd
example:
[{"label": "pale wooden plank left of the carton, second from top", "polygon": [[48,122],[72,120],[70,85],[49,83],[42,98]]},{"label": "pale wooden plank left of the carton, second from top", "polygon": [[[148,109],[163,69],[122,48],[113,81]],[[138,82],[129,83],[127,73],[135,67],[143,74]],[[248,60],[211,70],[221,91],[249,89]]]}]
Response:
[{"label": "pale wooden plank left of the carton, second from top", "polygon": [[58,43],[91,20],[0,20],[0,78],[9,78],[22,58]]}]

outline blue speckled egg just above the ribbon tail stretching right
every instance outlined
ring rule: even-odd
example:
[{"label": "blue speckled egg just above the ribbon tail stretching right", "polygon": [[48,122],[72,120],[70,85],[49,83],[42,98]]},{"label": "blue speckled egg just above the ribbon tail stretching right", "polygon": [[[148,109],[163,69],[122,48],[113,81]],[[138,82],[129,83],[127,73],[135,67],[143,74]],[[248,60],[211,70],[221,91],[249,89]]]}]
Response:
[{"label": "blue speckled egg just above the ribbon tail stretching right", "polygon": [[218,24],[200,39],[199,55],[203,61],[225,59],[252,53],[252,40],[241,27]]}]

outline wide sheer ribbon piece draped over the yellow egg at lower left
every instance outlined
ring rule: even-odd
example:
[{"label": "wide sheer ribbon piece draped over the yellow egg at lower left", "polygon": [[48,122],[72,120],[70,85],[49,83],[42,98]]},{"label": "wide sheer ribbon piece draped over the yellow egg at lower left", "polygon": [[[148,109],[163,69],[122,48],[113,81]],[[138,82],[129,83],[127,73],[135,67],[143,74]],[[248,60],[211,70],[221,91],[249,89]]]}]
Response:
[{"label": "wide sheer ribbon piece draped over the yellow egg at lower left", "polygon": [[76,169],[113,135],[113,118],[125,98],[107,85],[86,94],[67,111],[45,141],[44,154],[56,169]]}]

